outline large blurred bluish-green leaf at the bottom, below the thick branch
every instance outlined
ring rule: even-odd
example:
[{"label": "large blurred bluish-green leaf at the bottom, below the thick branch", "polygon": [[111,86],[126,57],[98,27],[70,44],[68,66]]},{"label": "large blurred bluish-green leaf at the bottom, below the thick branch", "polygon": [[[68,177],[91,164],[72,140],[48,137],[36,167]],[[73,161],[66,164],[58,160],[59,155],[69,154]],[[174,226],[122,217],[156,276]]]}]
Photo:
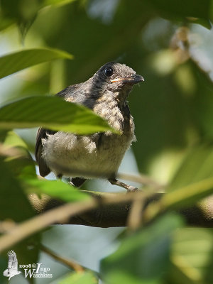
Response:
[{"label": "large blurred bluish-green leaf at the bottom, below the thick branch", "polygon": [[102,261],[108,284],[157,284],[168,273],[171,233],[181,224],[177,215],[165,215],[121,243]]}]

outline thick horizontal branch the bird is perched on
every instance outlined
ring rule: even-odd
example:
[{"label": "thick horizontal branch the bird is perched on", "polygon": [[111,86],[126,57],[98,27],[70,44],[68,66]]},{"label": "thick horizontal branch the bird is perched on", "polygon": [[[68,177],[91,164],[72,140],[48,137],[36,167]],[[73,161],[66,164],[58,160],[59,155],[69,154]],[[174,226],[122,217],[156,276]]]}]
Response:
[{"label": "thick horizontal branch the bird is perched on", "polygon": [[[136,227],[138,226],[138,222],[136,222],[136,220],[133,221],[133,219],[135,219],[134,217],[136,215],[138,216],[138,212],[141,212],[141,218],[143,218],[143,212],[148,204],[160,200],[164,195],[164,193],[147,194],[147,192],[127,195],[107,192],[88,193],[92,195],[92,197],[98,197],[99,206],[87,209],[87,212],[72,216],[67,219],[66,222],[60,224],[80,224],[104,228],[110,226],[126,226],[126,224],[128,224]],[[55,200],[47,195],[43,195],[41,199],[39,199],[37,195],[31,195],[30,200],[38,213],[46,212],[63,204],[62,201]],[[141,201],[141,206],[138,205],[138,201],[136,202],[136,200]],[[137,204],[135,209],[133,209],[134,202]],[[129,214],[131,209],[132,212]],[[178,209],[176,212],[182,214],[189,225],[212,227],[213,196],[202,200],[202,202],[192,207]]]}]

